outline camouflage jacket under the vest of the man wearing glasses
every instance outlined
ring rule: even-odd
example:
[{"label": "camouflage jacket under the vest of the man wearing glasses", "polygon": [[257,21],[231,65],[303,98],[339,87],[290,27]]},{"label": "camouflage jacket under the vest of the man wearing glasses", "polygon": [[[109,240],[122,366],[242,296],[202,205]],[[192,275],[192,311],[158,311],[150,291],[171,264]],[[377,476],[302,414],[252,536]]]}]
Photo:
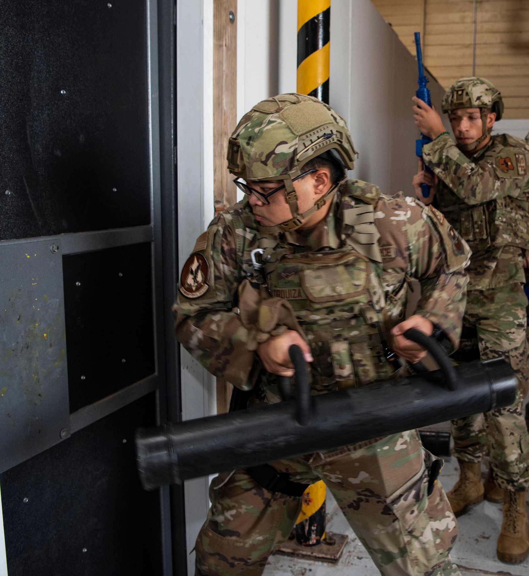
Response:
[{"label": "camouflage jacket under the vest of the man wearing glasses", "polygon": [[[343,183],[333,202],[315,230],[282,235],[278,241],[291,252],[339,250],[353,234],[343,219],[345,211],[358,204],[372,206],[381,260],[372,263],[379,266],[383,282],[386,331],[403,319],[407,291],[415,278],[421,285],[416,313],[441,328],[456,348],[470,251],[443,215],[402,194],[383,196],[375,185],[358,180]],[[247,349],[248,330],[236,308],[239,285],[253,270],[251,251],[258,247],[258,236],[247,199],[218,214],[184,264],[173,306],[179,342],[214,376],[241,389],[250,389],[256,374],[262,374],[258,357]],[[371,337],[372,332],[366,335]],[[328,354],[325,358],[330,362]]]}]

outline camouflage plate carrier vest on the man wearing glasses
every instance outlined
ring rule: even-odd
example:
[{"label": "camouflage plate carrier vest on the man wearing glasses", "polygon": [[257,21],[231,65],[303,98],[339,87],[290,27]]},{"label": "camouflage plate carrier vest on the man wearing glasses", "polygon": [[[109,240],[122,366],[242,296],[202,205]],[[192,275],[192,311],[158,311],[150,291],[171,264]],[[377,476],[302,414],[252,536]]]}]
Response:
[{"label": "camouflage plate carrier vest on the man wearing glasses", "polygon": [[[385,299],[380,234],[374,223],[377,198],[361,193],[361,188],[339,188],[335,218],[341,248],[306,251],[283,243],[283,236],[256,232],[258,247],[264,250],[267,289],[290,302],[311,347],[313,393],[363,386],[394,372],[386,359],[382,328]],[[273,384],[271,378],[275,381],[266,374],[268,384]]]}]

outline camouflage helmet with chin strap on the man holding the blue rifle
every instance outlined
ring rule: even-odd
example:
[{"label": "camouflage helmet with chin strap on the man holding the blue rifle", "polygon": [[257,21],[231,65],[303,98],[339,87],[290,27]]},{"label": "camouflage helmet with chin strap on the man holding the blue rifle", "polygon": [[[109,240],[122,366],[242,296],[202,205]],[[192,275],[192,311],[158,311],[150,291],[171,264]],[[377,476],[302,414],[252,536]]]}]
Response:
[{"label": "camouflage helmet with chin strap on the man holding the blue rifle", "polygon": [[448,88],[443,97],[443,112],[449,113],[457,108],[479,108],[483,131],[481,137],[470,144],[459,145],[464,151],[475,150],[490,134],[492,128],[487,129],[487,113],[496,112],[496,120],[503,115],[503,100],[501,92],[485,78],[471,76],[460,78]]}]

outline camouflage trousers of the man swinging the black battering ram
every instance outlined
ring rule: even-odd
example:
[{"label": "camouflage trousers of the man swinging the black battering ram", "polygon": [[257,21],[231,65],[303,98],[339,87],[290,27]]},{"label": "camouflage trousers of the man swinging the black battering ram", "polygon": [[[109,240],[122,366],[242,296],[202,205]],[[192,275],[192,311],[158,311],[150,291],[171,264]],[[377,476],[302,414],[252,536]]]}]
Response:
[{"label": "camouflage trousers of the man swinging the black battering ram", "polygon": [[[323,479],[381,574],[458,575],[449,556],[458,525],[439,481],[428,496],[433,460],[409,431],[271,464],[294,482]],[[269,492],[244,470],[213,479],[210,500],[195,547],[202,576],[259,576],[301,510],[301,498]]]}]

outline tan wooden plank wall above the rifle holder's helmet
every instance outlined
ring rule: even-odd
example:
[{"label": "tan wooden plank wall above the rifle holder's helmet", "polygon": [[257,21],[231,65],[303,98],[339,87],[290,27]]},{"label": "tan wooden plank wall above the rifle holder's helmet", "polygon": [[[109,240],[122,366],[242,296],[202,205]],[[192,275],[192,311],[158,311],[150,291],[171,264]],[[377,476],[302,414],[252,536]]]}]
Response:
[{"label": "tan wooden plank wall above the rifle holder's helmet", "polygon": [[[372,1],[412,54],[422,21],[424,63],[445,88],[472,74],[473,0]],[[529,0],[478,0],[475,73],[501,90],[504,118],[529,118]]]}]

